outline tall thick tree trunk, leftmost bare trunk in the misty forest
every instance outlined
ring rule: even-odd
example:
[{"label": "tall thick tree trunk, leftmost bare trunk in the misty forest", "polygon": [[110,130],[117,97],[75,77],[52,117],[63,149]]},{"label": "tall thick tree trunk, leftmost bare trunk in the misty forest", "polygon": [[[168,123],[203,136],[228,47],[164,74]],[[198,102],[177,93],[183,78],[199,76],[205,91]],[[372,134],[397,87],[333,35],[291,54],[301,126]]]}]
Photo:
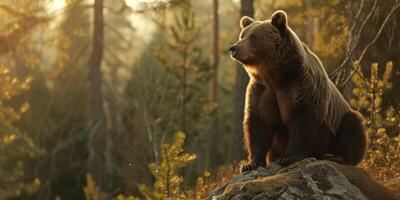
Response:
[{"label": "tall thick tree trunk, leftmost bare trunk in the misty forest", "polygon": [[103,109],[101,61],[103,57],[103,0],[94,2],[92,52],[88,61],[91,93],[91,133],[89,136],[89,173],[95,183],[105,188],[106,118]]}]

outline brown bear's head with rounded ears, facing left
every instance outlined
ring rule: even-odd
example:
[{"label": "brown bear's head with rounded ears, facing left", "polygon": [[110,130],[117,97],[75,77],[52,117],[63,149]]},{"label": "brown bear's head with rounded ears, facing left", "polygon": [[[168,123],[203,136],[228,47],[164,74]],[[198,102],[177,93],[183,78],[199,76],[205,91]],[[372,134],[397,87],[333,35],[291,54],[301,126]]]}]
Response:
[{"label": "brown bear's head with rounded ears, facing left", "polygon": [[255,21],[250,17],[240,19],[239,41],[229,48],[231,57],[246,67],[268,64],[275,51],[279,51],[288,31],[287,15],[276,11],[270,20]]}]

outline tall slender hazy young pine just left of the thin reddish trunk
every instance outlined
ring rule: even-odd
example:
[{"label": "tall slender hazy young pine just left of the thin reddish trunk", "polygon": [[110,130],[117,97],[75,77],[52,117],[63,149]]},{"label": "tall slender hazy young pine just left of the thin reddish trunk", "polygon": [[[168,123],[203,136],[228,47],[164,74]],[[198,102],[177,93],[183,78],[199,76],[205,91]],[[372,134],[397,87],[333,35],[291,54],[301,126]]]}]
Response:
[{"label": "tall slender hazy young pine just left of the thin reddish trunk", "polygon": [[179,102],[179,130],[198,134],[204,129],[196,127],[196,124],[199,121],[204,123],[213,110],[207,104],[207,93],[204,91],[211,74],[209,63],[202,56],[200,27],[190,0],[183,1],[181,6],[175,8],[172,21],[172,24],[166,24],[166,44],[160,45],[155,51],[158,60],[175,78],[170,95]]}]

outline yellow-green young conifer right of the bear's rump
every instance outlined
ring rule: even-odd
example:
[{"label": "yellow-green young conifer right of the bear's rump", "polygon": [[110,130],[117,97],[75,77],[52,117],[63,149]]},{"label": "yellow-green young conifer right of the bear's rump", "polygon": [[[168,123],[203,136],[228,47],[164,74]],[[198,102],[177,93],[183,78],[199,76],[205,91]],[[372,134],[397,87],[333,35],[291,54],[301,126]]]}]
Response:
[{"label": "yellow-green young conifer right of the bear's rump", "polygon": [[[356,63],[357,65],[358,63]],[[385,91],[392,89],[390,77],[393,62],[387,62],[382,77],[379,76],[377,63],[371,65],[369,78],[359,70],[353,77],[356,87],[353,107],[364,110],[367,115],[367,134],[369,148],[367,157],[361,164],[378,179],[399,176],[400,167],[400,112],[393,106],[383,110],[382,99]]]}]

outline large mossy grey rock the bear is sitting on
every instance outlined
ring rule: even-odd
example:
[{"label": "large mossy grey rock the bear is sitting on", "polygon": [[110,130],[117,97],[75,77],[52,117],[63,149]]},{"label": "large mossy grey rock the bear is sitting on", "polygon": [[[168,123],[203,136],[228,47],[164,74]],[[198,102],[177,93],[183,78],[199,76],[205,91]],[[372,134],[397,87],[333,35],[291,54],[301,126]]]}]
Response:
[{"label": "large mossy grey rock the bear is sitting on", "polygon": [[396,199],[363,170],[331,161],[304,159],[288,167],[271,164],[234,176],[208,200]]}]

